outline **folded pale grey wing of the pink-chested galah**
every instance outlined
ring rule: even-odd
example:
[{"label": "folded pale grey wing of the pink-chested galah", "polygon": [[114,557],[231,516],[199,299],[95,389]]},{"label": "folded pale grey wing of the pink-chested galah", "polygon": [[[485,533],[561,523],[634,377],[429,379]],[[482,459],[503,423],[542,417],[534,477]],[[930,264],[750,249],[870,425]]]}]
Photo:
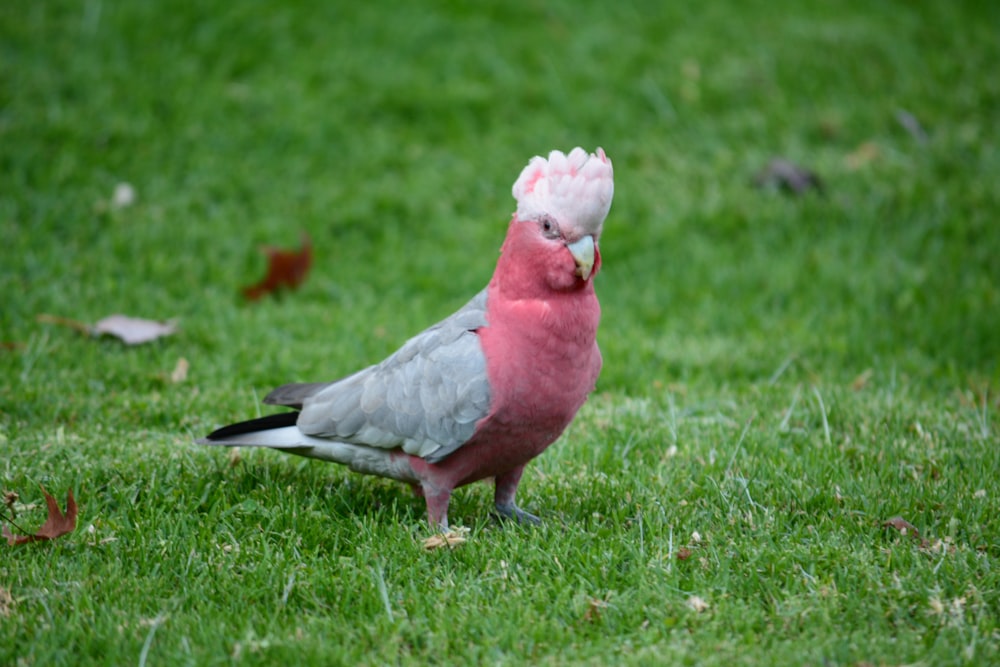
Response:
[{"label": "folded pale grey wing of the pink-chested galah", "polygon": [[440,461],[489,413],[486,357],[475,333],[485,324],[484,290],[382,363],[326,386],[299,385],[306,395],[287,392],[301,401],[299,429]]}]

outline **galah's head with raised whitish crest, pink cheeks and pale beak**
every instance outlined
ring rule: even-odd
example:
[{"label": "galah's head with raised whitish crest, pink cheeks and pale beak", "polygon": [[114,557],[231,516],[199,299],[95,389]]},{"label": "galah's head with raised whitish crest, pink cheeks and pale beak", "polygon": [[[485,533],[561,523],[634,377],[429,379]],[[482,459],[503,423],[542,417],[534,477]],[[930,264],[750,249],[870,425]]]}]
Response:
[{"label": "galah's head with raised whitish crest, pink cheeks and pale beak", "polygon": [[603,149],[533,157],[514,183],[517,212],[505,250],[512,243],[523,244],[519,252],[530,249],[546,263],[551,287],[586,282],[600,267],[597,242],[614,189],[614,170]]}]

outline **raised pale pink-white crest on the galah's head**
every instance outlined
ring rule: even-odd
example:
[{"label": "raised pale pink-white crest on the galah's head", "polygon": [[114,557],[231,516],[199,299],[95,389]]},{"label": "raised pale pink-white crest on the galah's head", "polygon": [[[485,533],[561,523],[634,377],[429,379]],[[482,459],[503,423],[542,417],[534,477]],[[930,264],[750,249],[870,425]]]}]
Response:
[{"label": "raised pale pink-white crest on the galah's head", "polygon": [[601,148],[596,154],[578,147],[569,155],[552,151],[547,160],[533,157],[513,188],[519,220],[552,216],[567,238],[598,238],[614,193],[614,170]]}]

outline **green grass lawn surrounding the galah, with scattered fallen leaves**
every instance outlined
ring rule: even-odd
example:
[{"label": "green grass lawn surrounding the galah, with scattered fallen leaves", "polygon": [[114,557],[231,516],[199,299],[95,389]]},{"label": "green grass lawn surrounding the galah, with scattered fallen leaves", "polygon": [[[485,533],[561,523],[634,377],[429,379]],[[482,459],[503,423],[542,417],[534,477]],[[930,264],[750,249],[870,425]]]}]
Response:
[{"label": "green grass lawn surrounding the galah, with scattered fallen leaves", "polygon": [[[0,486],[81,505],[4,545],[0,664],[1000,664],[1000,11],[338,4],[0,7]],[[192,444],[460,306],[575,145],[605,370],[542,527],[473,486],[425,553],[399,485]],[[775,155],[825,195],[753,188]],[[181,331],[36,320],[112,312]]]}]

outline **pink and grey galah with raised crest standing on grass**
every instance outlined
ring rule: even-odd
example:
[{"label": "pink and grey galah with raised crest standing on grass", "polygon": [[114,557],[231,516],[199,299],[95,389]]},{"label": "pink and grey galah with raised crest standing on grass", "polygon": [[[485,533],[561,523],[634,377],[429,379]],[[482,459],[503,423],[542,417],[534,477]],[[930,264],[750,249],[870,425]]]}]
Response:
[{"label": "pink and grey galah with raised crest standing on grass", "polygon": [[198,442],[271,447],[412,485],[448,527],[454,489],[493,478],[497,512],[517,506],[525,464],[565,430],[601,370],[594,276],[611,207],[600,148],[534,157],[489,285],[379,364],[264,398],[294,411],[225,426]]}]

